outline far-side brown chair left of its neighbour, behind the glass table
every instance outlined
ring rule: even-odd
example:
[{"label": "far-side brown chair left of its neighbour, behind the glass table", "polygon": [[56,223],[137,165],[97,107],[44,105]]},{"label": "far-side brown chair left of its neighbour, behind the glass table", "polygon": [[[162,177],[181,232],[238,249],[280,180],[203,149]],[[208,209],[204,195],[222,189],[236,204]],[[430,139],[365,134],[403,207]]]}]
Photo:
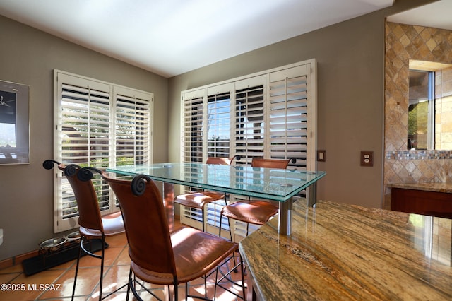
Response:
[{"label": "far-side brown chair left of its neighbour, behind the glass table", "polygon": [[[234,159],[240,160],[239,155],[235,155],[232,158],[223,158],[223,157],[209,157],[206,160],[206,164],[217,164],[217,165],[231,165]],[[201,210],[201,222],[203,223],[203,232],[205,231],[206,218],[204,216],[204,206],[207,203],[211,203],[213,201],[220,201],[221,199],[225,199],[225,194],[215,191],[201,191],[201,192],[193,192],[189,194],[181,194],[174,199],[175,203],[179,203],[189,208],[198,208]],[[226,201],[226,199],[225,199]]]}]

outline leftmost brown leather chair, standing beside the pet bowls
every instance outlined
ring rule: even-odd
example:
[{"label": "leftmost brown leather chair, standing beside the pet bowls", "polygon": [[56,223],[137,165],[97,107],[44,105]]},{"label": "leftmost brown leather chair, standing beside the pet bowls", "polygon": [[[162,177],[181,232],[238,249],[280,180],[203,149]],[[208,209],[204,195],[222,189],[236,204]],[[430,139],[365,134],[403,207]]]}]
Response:
[{"label": "leftmost brown leather chair, standing beside the pet bowls", "polygon": [[[112,293],[102,297],[102,284],[104,278],[104,261],[105,261],[105,248],[106,242],[105,238],[112,235],[119,235],[124,233],[124,223],[121,216],[121,211],[117,211],[115,213],[110,213],[105,216],[101,216],[99,202],[97,200],[97,194],[91,181],[91,177],[83,177],[83,175],[79,174],[81,167],[75,164],[64,165],[58,163],[54,160],[45,160],[42,163],[42,166],[50,170],[56,164],[59,170],[64,172],[66,179],[73,189],[73,194],[76,198],[77,208],[78,208],[78,225],[80,225],[79,232],[81,234],[80,240],[80,250],[78,252],[77,264],[76,264],[76,275],[73,280],[73,289],[72,289],[72,300],[76,293],[76,283],[78,276],[78,266],[80,263],[80,258],[82,256],[82,252],[88,254],[89,256],[100,259],[100,282],[99,282],[99,300],[102,298],[108,297],[115,293],[117,290],[124,288],[125,285],[122,285],[121,288],[117,288]],[[92,173],[91,173],[92,176]],[[95,254],[90,251],[86,246],[90,244],[86,244],[87,240],[101,240],[102,249],[101,254]]]}]

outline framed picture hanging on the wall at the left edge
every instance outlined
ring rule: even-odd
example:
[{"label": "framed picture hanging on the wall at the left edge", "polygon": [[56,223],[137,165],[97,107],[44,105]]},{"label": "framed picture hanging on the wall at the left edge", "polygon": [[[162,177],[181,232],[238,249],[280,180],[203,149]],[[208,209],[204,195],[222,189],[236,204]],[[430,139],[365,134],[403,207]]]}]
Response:
[{"label": "framed picture hanging on the wall at the left edge", "polygon": [[30,87],[0,81],[0,165],[30,163]]}]

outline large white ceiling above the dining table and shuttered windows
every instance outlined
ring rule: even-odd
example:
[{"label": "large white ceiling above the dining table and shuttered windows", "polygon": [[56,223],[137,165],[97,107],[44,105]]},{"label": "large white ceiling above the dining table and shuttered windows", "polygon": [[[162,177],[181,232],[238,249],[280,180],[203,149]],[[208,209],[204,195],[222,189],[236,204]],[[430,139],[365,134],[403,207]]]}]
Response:
[{"label": "large white ceiling above the dining table and shuttered windows", "polygon": [[0,13],[170,77],[392,4],[393,0],[0,0]]}]

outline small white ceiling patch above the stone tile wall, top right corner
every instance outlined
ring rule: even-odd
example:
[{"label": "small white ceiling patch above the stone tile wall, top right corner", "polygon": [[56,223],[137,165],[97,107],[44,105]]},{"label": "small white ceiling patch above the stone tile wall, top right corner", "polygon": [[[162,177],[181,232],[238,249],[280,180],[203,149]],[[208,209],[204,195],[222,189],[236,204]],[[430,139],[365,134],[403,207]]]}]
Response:
[{"label": "small white ceiling patch above the stone tile wall, top right corner", "polygon": [[388,20],[394,23],[452,30],[452,0],[441,0],[413,8],[410,11],[389,16]]}]

